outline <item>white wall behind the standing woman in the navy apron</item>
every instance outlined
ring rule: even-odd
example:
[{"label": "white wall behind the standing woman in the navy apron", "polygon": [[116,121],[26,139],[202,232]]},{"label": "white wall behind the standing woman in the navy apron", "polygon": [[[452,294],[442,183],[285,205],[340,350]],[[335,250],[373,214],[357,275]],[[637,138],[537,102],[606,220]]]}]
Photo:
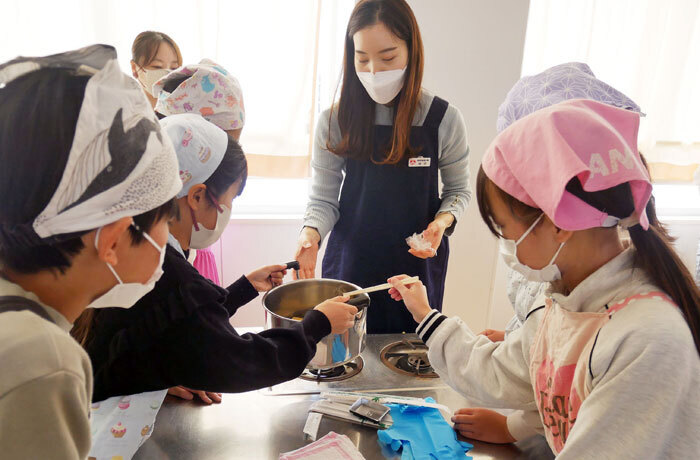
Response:
[{"label": "white wall behind the standing woman in the navy apron", "polygon": [[[467,125],[472,182],[495,135],[496,111],[520,75],[527,1],[409,1],[423,36],[424,86],[458,107]],[[251,269],[293,258],[301,220],[234,220],[219,249],[226,283]],[[496,261],[494,239],[473,201],[451,238],[444,310],[476,330],[489,322]],[[223,257],[221,257],[223,253]],[[319,257],[320,260],[320,257]],[[260,302],[234,318],[236,325],[262,323]]]}]

